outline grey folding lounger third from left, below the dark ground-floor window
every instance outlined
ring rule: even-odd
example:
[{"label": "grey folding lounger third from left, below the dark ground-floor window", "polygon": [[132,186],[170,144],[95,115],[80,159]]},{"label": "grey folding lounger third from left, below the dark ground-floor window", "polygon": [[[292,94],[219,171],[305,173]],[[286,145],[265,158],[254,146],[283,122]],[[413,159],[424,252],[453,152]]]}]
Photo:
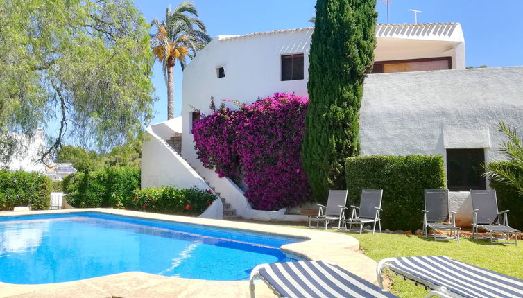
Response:
[{"label": "grey folding lounger third from left, below the dark ground-floor window", "polygon": [[[423,236],[434,240],[457,240],[459,230],[456,227],[456,212],[449,208],[449,191],[447,189],[425,189],[425,210],[423,210]],[[428,231],[432,230],[432,234]],[[436,234],[436,230],[450,231],[450,236]],[[454,236],[452,236],[454,231]]]}]

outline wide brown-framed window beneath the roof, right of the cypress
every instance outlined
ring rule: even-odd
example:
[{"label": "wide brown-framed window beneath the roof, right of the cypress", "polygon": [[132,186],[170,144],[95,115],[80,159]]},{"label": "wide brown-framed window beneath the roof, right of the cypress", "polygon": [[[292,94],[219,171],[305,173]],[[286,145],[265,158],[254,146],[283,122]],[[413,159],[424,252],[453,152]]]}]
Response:
[{"label": "wide brown-framed window beneath the roof, right of the cypress", "polygon": [[437,71],[452,69],[451,57],[378,61],[374,63],[372,73],[397,73],[406,71]]}]

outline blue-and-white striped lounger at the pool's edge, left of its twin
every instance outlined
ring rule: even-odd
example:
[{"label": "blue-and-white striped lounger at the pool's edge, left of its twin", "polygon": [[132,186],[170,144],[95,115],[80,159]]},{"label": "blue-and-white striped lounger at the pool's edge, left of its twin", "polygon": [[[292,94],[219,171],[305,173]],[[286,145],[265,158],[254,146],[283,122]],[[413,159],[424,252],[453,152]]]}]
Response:
[{"label": "blue-and-white striped lounger at the pool's edge, left of its twin", "polygon": [[250,297],[254,279],[263,280],[277,297],[397,297],[325,261],[261,264],[250,272]]}]

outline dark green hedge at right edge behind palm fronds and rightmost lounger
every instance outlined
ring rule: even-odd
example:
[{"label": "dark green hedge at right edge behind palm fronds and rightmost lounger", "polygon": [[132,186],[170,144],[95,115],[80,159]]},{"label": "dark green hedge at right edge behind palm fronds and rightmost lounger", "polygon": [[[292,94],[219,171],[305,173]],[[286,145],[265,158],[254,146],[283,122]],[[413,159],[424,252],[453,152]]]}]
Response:
[{"label": "dark green hedge at right edge behind palm fronds and rightmost lounger", "polygon": [[[519,168],[512,161],[491,162],[487,165],[488,169],[492,167],[519,172]],[[523,177],[523,173],[517,175]],[[508,225],[515,229],[523,229],[523,195],[517,191],[517,187],[506,182],[493,180],[490,180],[490,187],[496,190],[499,211],[511,211],[508,213]]]}]

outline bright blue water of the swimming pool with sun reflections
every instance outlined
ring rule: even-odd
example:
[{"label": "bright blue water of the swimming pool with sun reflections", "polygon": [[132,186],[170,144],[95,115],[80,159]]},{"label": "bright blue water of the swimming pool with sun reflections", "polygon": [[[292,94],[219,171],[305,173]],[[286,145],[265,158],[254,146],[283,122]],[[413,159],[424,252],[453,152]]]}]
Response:
[{"label": "bright blue water of the swimming pool with sun reflections", "polygon": [[83,212],[0,218],[0,281],[57,283],[142,271],[244,280],[261,263],[295,261],[299,238]]}]

